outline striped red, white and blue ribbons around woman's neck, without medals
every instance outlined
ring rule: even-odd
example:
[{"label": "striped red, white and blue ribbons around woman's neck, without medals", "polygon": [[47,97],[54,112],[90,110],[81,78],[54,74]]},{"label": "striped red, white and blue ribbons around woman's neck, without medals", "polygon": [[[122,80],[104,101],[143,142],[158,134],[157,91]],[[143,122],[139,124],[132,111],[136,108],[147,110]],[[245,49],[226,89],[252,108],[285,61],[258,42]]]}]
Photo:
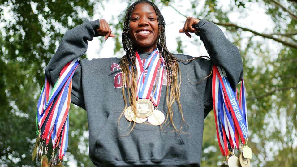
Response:
[{"label": "striped red, white and blue ribbons around woman's neck, without medals", "polygon": [[[164,76],[164,58],[161,57],[161,63],[159,62],[160,54],[155,49],[149,58],[145,61],[144,65],[142,60],[136,51],[136,69],[137,69],[137,98],[151,99],[153,104],[157,106],[161,97],[163,76]],[[160,67],[160,71],[159,71]],[[145,74],[145,69],[148,68]],[[159,71],[159,72],[158,72]],[[158,75],[159,74],[159,75]],[[158,79],[157,79],[158,76]],[[156,89],[153,91],[155,80],[157,81]]]}]

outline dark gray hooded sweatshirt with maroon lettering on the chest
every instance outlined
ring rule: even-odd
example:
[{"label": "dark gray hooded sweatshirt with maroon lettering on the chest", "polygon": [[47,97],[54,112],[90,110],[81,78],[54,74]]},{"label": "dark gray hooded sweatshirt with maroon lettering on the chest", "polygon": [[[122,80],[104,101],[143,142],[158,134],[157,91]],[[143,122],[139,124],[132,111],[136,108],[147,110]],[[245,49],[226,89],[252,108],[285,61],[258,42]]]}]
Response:
[{"label": "dark gray hooded sweatshirt with maroon lettering on the chest", "polygon": [[[54,84],[63,66],[87,51],[88,41],[100,36],[95,29],[99,20],[85,21],[67,31],[50,59],[45,73]],[[231,86],[235,88],[243,75],[243,64],[238,48],[226,39],[215,24],[200,20],[195,27],[203,41],[210,60],[198,58],[191,62],[178,62],[181,71],[180,102],[183,116],[183,133],[176,133],[171,124],[163,126],[136,124],[130,131],[129,121],[118,118],[124,109],[120,58],[101,58],[79,61],[73,75],[71,102],[87,111],[89,155],[97,166],[200,166],[204,118],[213,109],[211,64],[225,69]],[[140,53],[147,59],[150,53]],[[191,56],[175,54],[179,59]],[[158,109],[165,116],[166,75]],[[200,82],[201,81],[201,82]],[[129,103],[128,103],[129,104]],[[181,117],[176,103],[172,106],[177,128]],[[71,113],[69,113],[71,114]],[[71,120],[70,120],[71,121]],[[213,123],[215,126],[215,123]]]}]

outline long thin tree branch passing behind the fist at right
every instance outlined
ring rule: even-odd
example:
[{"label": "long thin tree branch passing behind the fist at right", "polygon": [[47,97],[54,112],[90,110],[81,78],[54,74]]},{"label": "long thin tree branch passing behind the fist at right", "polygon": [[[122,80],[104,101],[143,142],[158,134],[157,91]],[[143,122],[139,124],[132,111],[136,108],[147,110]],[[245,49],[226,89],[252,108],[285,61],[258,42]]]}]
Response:
[{"label": "long thin tree branch passing behind the fist at right", "polygon": [[[175,11],[177,11],[180,15],[183,15],[180,11],[178,11],[177,9],[175,9],[175,7],[173,7],[173,6],[169,5],[169,4],[168,4],[168,6],[170,6],[172,9],[174,9]],[[185,18],[187,18],[186,15],[183,15],[183,16],[184,16]],[[217,25],[225,26],[225,27],[235,27],[236,29],[239,29],[239,28],[240,28],[240,29],[242,29],[243,31],[252,32],[252,33],[255,34],[255,35],[262,36],[262,37],[264,37],[264,38],[269,38],[269,39],[272,39],[272,40],[274,40],[274,41],[280,42],[280,43],[282,43],[282,44],[284,44],[284,45],[287,45],[287,46],[290,46],[290,47],[292,47],[292,48],[297,49],[297,44],[295,44],[295,43],[290,43],[290,42],[287,42],[287,41],[282,41],[282,40],[279,39],[279,38],[275,38],[275,37],[273,37],[271,34],[262,34],[262,33],[260,33],[260,32],[256,32],[256,31],[251,30],[251,29],[249,29],[249,28],[240,27],[240,26],[238,26],[238,25],[236,25],[236,24],[233,24],[233,23],[220,23],[220,22],[213,22],[213,23],[214,23],[214,24],[217,24]]]}]

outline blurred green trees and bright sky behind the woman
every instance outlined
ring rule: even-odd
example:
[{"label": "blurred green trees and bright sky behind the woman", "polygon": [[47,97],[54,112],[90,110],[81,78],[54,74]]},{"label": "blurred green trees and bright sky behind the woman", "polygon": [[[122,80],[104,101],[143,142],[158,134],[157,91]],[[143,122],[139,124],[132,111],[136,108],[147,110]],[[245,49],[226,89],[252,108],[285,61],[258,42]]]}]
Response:
[{"label": "blurred green trees and bright sky behind the woman", "polygon": [[[81,58],[121,57],[124,15],[134,1],[0,1],[0,166],[36,166],[37,100],[44,71],[63,34],[84,20],[106,19],[116,38],[97,37]],[[155,0],[166,21],[170,52],[207,55],[202,41],[178,30],[186,16],[217,24],[244,64],[251,166],[297,164],[297,1]],[[94,166],[86,112],[71,104],[66,166]],[[78,119],[79,118],[79,119]],[[205,119],[202,166],[222,163],[213,112]]]}]

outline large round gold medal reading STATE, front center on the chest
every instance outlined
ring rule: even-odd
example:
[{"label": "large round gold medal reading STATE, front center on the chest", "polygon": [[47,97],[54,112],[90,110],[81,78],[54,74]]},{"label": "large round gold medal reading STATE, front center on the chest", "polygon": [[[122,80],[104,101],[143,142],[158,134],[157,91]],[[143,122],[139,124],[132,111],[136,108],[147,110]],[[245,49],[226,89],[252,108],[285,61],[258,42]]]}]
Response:
[{"label": "large round gold medal reading STATE, front center on the chest", "polygon": [[136,101],[136,109],[137,117],[147,118],[153,113],[154,105],[149,99],[138,99]]}]

